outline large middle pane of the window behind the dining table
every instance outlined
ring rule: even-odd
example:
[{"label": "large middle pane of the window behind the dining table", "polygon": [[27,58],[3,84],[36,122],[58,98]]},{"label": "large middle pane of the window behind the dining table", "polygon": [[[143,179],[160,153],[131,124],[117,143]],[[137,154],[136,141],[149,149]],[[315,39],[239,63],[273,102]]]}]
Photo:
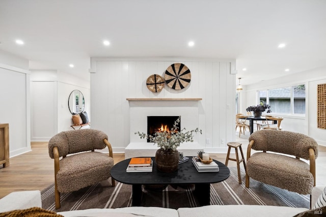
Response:
[{"label": "large middle pane of the window behind the dining table", "polygon": [[291,113],[291,87],[268,90],[270,110],[273,113]]}]

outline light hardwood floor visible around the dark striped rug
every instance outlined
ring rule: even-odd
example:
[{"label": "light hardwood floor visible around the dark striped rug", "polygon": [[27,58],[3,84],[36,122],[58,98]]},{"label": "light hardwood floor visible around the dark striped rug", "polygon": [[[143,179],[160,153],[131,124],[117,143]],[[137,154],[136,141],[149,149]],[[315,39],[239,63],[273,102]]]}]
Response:
[{"label": "light hardwood floor visible around the dark striped rug", "polygon": [[[247,133],[248,134],[248,133]],[[238,135],[238,134],[237,134]],[[242,149],[246,156],[248,138],[241,135],[237,138],[243,144]],[[47,142],[33,142],[32,151],[10,158],[10,166],[0,166],[0,198],[11,192],[40,190],[54,182],[53,159],[48,155]],[[232,154],[231,154],[232,155]],[[225,162],[226,153],[212,153],[210,156]],[[124,160],[123,153],[114,153],[115,164]],[[326,147],[319,147],[319,156],[316,160],[317,185],[326,184]],[[229,167],[236,166],[229,161]]]}]

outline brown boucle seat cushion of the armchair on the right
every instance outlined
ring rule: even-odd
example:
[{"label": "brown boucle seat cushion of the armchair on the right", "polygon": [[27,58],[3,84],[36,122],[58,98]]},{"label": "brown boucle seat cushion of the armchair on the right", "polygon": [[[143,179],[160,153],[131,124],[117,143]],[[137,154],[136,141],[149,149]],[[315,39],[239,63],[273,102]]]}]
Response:
[{"label": "brown boucle seat cushion of the armchair on the right", "polygon": [[311,194],[314,184],[309,169],[300,159],[275,153],[254,153],[247,161],[251,178],[303,195]]}]

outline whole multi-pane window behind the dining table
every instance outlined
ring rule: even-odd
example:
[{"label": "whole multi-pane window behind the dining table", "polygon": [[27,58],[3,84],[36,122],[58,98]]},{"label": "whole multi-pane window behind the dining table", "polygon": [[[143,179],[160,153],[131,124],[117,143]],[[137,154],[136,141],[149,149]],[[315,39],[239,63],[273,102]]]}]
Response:
[{"label": "whole multi-pane window behind the dining table", "polygon": [[258,91],[259,103],[267,103],[273,113],[305,114],[306,113],[306,86],[291,87]]}]

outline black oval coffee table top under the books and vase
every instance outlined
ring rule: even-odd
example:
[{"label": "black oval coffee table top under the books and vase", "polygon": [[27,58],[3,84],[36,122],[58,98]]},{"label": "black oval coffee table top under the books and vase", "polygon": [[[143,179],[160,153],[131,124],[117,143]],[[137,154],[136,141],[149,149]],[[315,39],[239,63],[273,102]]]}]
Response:
[{"label": "black oval coffee table top under the books and vase", "polygon": [[216,183],[227,179],[230,176],[230,170],[222,162],[214,160],[219,165],[219,172],[201,172],[199,173],[192,162],[189,160],[179,164],[178,170],[173,173],[162,173],[157,171],[155,157],[153,159],[152,172],[133,172],[127,173],[126,168],[130,159],[118,162],[111,169],[111,176],[125,184],[201,184]]}]

